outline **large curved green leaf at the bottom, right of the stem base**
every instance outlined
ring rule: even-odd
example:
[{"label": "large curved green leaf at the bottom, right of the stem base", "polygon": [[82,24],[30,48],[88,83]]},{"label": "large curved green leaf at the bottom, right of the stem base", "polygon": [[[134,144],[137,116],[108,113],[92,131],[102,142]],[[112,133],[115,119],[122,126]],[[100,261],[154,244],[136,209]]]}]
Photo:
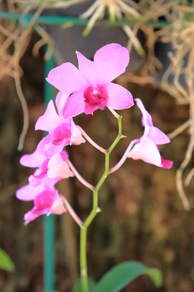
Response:
[{"label": "large curved green leaf at the bottom, right of the stem base", "polygon": [[162,274],[158,269],[147,268],[144,264],[129,261],[117,265],[97,283],[94,292],[119,292],[140,275],[146,274],[156,287],[162,285]]}]

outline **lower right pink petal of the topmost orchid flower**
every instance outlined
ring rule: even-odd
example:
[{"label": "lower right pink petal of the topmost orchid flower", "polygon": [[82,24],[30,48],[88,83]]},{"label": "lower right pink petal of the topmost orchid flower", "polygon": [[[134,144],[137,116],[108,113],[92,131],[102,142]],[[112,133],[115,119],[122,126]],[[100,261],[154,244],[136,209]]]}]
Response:
[{"label": "lower right pink petal of the topmost orchid flower", "polygon": [[115,110],[123,110],[133,106],[132,95],[124,87],[118,84],[109,83],[105,89],[107,92],[107,107]]}]

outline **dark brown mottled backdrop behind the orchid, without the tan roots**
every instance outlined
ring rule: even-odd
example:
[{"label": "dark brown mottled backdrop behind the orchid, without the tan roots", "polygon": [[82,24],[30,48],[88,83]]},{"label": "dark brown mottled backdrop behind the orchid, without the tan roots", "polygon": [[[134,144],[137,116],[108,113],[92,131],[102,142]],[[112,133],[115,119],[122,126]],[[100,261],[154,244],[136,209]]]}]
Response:
[{"label": "dark brown mottled backdrop behind the orchid, without the tan roots", "polygon": [[[36,37],[32,37],[21,60],[22,89],[30,113],[30,128],[21,153],[17,152],[23,124],[21,105],[14,81],[10,77],[0,81],[0,247],[16,264],[16,273],[0,272],[2,292],[42,292],[43,220],[36,219],[25,227],[23,215],[32,203],[15,198],[16,189],[27,183],[32,173],[32,169],[19,165],[19,158],[31,153],[42,137],[41,131],[34,131],[37,118],[44,112],[44,61],[42,56],[32,56],[35,41]],[[176,106],[172,97],[157,88],[129,84],[129,90],[134,98],[143,100],[155,125],[165,133],[188,119],[188,107]],[[143,132],[140,110],[132,107],[120,113],[127,138],[113,151],[111,165],[118,162],[131,139]],[[117,135],[117,121],[108,110],[97,110],[94,116],[81,115],[75,121],[103,147],[108,147]],[[102,212],[89,228],[88,236],[89,274],[96,280],[116,263],[132,259],[162,270],[161,292],[194,291],[194,211],[184,211],[175,186],[175,170],[184,158],[187,143],[185,132],[161,147],[162,155],[174,161],[172,169],[128,160],[101,188]],[[97,183],[103,172],[103,154],[88,143],[67,149],[81,175]],[[194,161],[190,169],[192,164]],[[75,178],[63,181],[59,187],[84,219],[92,208],[91,192]],[[193,206],[194,183],[186,191]],[[67,214],[56,217],[56,289],[60,292],[68,292],[79,273],[78,253],[79,228]],[[148,291],[156,290],[147,278],[125,289]]]}]

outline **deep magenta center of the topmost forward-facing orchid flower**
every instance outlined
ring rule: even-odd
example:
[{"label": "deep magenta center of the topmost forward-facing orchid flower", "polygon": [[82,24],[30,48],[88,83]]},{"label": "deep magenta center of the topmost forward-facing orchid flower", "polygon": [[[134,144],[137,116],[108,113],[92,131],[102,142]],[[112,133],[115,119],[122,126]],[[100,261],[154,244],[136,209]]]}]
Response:
[{"label": "deep magenta center of the topmost forward-facing orchid flower", "polygon": [[105,103],[106,103],[106,91],[103,88],[100,88],[98,86],[88,87],[84,93],[84,102],[90,106],[90,107],[96,107],[100,110],[104,110]]}]

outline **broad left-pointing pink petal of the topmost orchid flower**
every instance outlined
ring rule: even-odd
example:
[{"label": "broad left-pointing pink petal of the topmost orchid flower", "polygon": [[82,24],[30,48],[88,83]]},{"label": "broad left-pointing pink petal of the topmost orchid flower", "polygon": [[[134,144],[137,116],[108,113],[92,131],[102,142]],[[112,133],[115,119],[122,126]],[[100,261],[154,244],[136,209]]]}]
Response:
[{"label": "broad left-pointing pink petal of the topmost orchid flower", "polygon": [[83,74],[71,63],[64,63],[52,69],[46,80],[67,95],[90,86]]}]

